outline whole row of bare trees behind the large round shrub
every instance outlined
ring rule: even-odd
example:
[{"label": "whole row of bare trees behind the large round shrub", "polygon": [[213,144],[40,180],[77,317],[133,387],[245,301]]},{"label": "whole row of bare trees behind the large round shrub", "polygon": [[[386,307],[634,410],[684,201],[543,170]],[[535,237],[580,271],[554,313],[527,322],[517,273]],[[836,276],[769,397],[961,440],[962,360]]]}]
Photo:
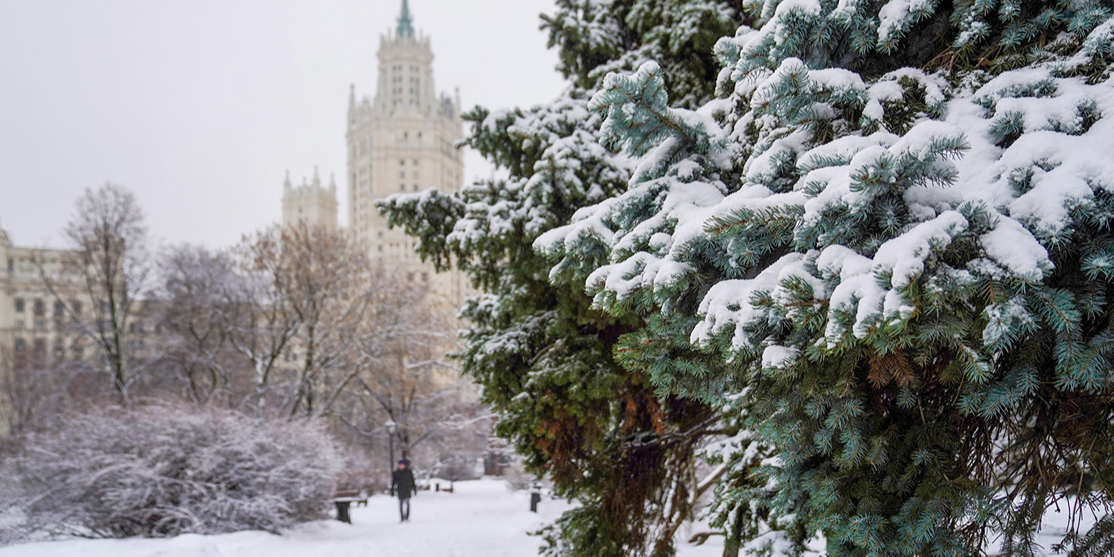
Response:
[{"label": "whole row of bare trees behind the large round shrub", "polygon": [[57,436],[91,423],[86,414],[166,404],[176,410],[164,414],[314,422],[346,460],[330,481],[349,488],[382,486],[395,458],[468,476],[481,456],[490,421],[443,358],[451,316],[351,235],[275,225],[225,250],[154,250],[134,194],[105,185],[78,199],[66,240],[35,262],[61,350],[0,349],[0,456],[70,442]]}]

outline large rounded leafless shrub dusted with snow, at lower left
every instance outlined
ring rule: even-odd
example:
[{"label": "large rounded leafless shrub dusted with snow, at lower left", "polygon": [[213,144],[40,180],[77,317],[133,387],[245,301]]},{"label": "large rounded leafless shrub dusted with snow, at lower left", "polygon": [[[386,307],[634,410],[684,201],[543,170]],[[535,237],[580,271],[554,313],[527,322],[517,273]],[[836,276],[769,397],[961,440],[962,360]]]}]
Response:
[{"label": "large rounded leafless shrub dusted with snow, at lower left", "polygon": [[164,537],[322,518],[338,468],[313,423],[148,407],[66,418],[28,439],[14,470],[36,529]]}]

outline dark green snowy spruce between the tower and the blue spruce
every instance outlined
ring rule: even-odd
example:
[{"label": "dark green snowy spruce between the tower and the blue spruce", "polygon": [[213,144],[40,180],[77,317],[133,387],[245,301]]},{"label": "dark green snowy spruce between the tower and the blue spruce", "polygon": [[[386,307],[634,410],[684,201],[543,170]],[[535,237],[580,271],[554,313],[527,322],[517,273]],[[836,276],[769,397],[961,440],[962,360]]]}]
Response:
[{"label": "dark green snowy spruce between the tower and the blue spruce", "polygon": [[637,67],[646,58],[636,51],[649,49],[692,76],[684,82],[698,105],[714,88],[711,46],[737,27],[737,14],[719,1],[559,2],[545,27],[573,87],[530,110],[465,116],[467,144],[506,177],[380,204],[392,225],[420,238],[423,258],[458,265],[485,292],[462,311],[470,325],[462,368],[500,414],[498,433],[582,504],[547,535],[553,555],[672,554],[694,496],[694,450],[717,420],[705,404],[656,395],[645,373],[619,367],[615,343],[641,319],[593,310],[583,278],[550,282],[550,264],[531,244],[619,194],[631,177],[629,158],[599,145],[603,118],[586,108],[593,71]]}]

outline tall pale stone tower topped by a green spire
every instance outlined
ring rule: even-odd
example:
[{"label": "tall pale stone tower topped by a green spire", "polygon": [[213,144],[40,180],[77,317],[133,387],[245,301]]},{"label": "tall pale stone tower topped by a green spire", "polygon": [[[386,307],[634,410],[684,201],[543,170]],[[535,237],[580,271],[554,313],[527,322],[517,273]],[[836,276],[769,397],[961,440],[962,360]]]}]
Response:
[{"label": "tall pale stone tower topped by a green spire", "polygon": [[438,95],[429,37],[414,33],[407,0],[393,32],[380,37],[379,82],[373,99],[349,94],[349,227],[371,250],[372,260],[430,282],[431,292],[452,305],[463,301],[459,273],[434,275],[414,253],[417,241],[388,229],[374,201],[429,188],[456,192],[463,164],[453,143],[463,135],[460,95]]}]

